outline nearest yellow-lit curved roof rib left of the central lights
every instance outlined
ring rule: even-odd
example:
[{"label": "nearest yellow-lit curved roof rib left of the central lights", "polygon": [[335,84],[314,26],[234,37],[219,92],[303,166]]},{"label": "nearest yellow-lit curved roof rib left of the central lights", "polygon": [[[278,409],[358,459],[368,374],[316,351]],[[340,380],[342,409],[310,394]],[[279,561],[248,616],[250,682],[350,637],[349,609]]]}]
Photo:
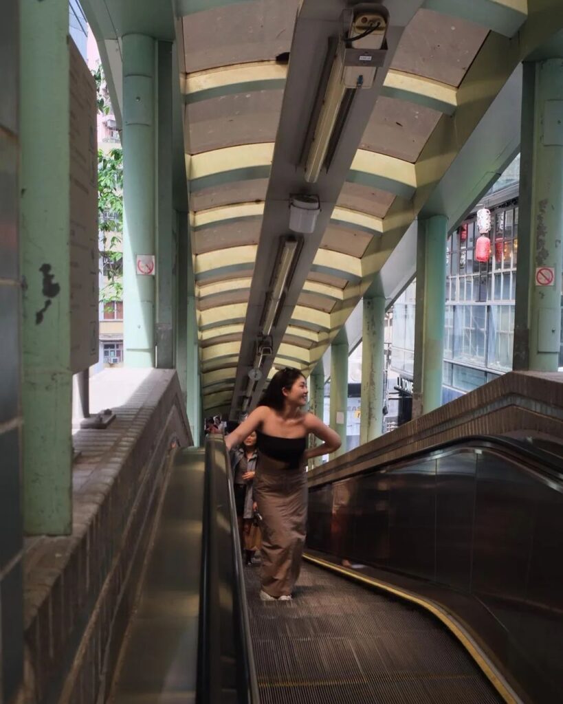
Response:
[{"label": "nearest yellow-lit curved roof rib left of the central lights", "polygon": [[286,83],[287,66],[275,61],[238,63],[181,77],[184,102],[202,100],[258,90],[280,90]]}]

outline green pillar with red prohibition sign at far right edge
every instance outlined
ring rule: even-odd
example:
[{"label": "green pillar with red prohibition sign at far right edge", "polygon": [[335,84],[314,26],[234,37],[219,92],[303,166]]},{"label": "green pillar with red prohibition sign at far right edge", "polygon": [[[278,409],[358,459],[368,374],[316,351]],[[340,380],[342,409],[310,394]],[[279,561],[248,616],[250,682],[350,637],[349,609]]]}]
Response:
[{"label": "green pillar with red prohibition sign at far right edge", "polygon": [[522,86],[514,370],[557,372],[559,366],[562,194],[563,58],[526,62]]}]

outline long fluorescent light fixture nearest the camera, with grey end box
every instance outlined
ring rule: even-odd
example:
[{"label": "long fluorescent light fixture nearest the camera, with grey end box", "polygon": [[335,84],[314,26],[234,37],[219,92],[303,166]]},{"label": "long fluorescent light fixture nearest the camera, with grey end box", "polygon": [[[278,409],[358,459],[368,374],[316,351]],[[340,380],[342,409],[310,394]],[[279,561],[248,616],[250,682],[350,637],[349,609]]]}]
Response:
[{"label": "long fluorescent light fixture nearest the camera, with grey end box", "polygon": [[313,110],[318,118],[305,160],[305,180],[309,183],[317,182],[329,146],[332,153],[336,149],[355,90],[371,88],[377,68],[384,65],[388,18],[388,10],[379,3],[360,3],[342,14],[343,32],[336,54],[332,53],[334,49],[329,50],[331,70],[326,89],[319,92],[322,107]]}]

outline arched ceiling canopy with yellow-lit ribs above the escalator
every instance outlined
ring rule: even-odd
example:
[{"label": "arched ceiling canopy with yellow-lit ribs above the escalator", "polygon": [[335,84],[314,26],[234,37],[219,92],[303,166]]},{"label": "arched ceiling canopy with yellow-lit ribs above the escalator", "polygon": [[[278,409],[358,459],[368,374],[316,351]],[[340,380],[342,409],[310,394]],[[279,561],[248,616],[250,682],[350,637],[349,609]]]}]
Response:
[{"label": "arched ceiling canopy with yellow-lit ribs above the escalator", "polygon": [[[371,95],[355,99],[313,189],[322,213],[293,270],[255,396],[276,367],[308,373],[318,363],[523,58],[511,37],[531,24],[526,0],[469,5],[471,16],[460,0],[386,3],[388,61],[360,91]],[[236,415],[246,393],[279,237],[289,232],[289,195],[311,190],[299,154],[343,6],[177,3],[205,413]]]}]

